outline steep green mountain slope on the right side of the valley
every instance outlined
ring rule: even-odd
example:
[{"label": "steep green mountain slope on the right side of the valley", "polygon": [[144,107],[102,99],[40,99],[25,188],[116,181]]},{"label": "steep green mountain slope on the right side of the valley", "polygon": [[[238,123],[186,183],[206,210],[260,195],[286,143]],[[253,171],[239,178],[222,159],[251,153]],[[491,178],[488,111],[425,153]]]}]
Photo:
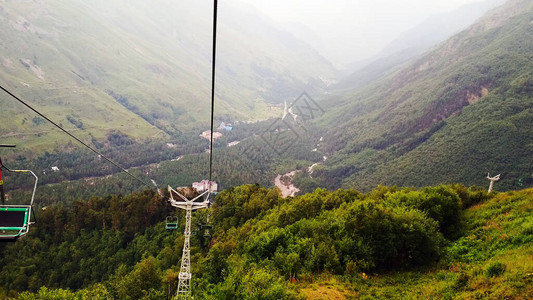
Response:
[{"label": "steep green mountain slope on the right side of the valley", "polygon": [[[332,96],[316,186],[533,184],[533,3],[513,0],[378,81]],[[323,102],[326,105],[326,102]],[[297,181],[298,181],[297,180]]]}]

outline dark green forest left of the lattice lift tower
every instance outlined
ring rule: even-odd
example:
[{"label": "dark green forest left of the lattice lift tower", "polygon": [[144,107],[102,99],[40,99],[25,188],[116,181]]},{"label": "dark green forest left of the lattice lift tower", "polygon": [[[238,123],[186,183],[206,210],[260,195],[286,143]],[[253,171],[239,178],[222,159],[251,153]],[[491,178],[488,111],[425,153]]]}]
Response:
[{"label": "dark green forest left of the lattice lift tower", "polygon": [[[8,290],[36,291],[42,285],[79,289],[107,280],[119,265],[139,260],[151,243],[161,243],[164,229],[154,234],[149,226],[168,212],[166,201],[153,191],[95,197],[68,210],[48,207],[38,213],[38,223],[27,238],[2,250],[0,283]],[[144,234],[151,239],[131,247]],[[155,249],[157,254],[159,246]]]}]

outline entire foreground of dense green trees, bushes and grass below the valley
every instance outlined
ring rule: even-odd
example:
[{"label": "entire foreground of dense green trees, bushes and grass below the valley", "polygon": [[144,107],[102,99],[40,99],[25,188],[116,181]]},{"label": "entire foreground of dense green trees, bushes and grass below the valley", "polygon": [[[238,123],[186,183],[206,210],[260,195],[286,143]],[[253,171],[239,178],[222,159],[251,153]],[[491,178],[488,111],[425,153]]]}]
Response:
[{"label": "entire foreground of dense green trees, bushes and grass below the valley", "polygon": [[[184,218],[165,197],[145,190],[39,210],[26,237],[0,245],[0,297],[172,296]],[[428,295],[526,297],[532,199],[532,190],[487,194],[462,185],[317,189],[294,198],[258,185],[229,188],[209,212],[193,214],[197,224],[209,213],[214,234],[204,238],[199,227],[191,240],[192,292],[304,299],[330,285],[347,296],[401,297],[422,286],[400,278],[417,276],[436,282]],[[165,230],[168,215],[179,217],[178,230]]]}]

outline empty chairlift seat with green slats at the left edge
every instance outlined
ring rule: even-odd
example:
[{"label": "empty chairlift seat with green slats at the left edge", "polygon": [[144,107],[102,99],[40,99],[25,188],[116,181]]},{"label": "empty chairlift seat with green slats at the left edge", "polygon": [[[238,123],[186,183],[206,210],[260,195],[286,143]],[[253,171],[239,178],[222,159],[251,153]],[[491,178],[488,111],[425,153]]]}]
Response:
[{"label": "empty chairlift seat with green slats at the left edge", "polygon": [[37,175],[31,170],[10,170],[2,164],[0,160],[0,186],[2,185],[2,168],[14,173],[31,173],[35,177],[35,183],[33,185],[33,192],[31,195],[30,204],[13,204],[6,205],[4,199],[4,192],[2,193],[2,205],[0,205],[0,241],[2,242],[14,242],[19,237],[26,235],[30,230],[32,222],[32,206],[35,198],[35,191],[37,190]]}]

